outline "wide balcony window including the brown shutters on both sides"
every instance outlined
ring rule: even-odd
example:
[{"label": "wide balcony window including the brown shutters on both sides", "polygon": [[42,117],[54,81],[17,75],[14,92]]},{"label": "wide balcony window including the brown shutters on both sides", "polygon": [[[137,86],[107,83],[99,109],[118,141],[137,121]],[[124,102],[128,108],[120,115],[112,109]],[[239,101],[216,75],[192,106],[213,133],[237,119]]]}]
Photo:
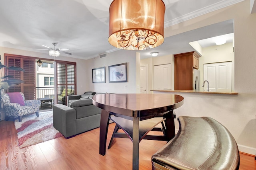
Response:
[{"label": "wide balcony window including the brown shutters on both sides", "polygon": [[[43,69],[47,73],[40,73],[42,75],[40,80],[42,81],[40,81],[40,84],[37,84],[39,81],[36,80],[39,80],[39,77],[38,73],[36,73],[36,61],[38,61],[38,58],[36,57],[5,54],[4,65],[17,66],[24,68],[25,70],[24,72],[11,69],[6,70],[6,75],[10,77],[12,76],[12,78],[15,79],[24,80],[24,83],[17,86],[11,86],[6,92],[23,92],[25,100],[40,98],[39,96],[41,96],[41,98],[42,96],[49,96],[49,98],[55,98],[54,102],[58,101],[66,104],[66,97],[68,95],[76,94],[76,63],[44,60],[46,62],[48,61],[48,63],[42,64],[43,67],[47,67],[46,69]],[[50,64],[50,66],[48,64]],[[54,68],[54,71],[56,72],[54,75],[49,74],[48,72],[48,70],[53,70],[52,68]],[[42,88],[36,87],[36,85],[41,87],[46,86],[46,90],[42,90]],[[41,90],[39,90],[39,88]],[[58,100],[56,96],[58,96]]]}]

